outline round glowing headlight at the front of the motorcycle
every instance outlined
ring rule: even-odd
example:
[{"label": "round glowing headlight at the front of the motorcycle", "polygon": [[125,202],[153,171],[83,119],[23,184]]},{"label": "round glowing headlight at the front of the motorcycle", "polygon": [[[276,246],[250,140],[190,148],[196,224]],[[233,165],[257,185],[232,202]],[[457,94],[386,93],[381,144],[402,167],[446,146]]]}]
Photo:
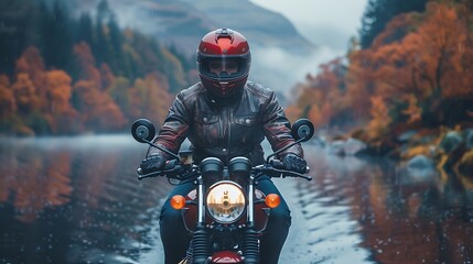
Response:
[{"label": "round glowing headlight at the front of the motorcycle", "polygon": [[207,210],[219,223],[232,223],[245,211],[245,195],[240,187],[233,183],[218,183],[207,193]]}]

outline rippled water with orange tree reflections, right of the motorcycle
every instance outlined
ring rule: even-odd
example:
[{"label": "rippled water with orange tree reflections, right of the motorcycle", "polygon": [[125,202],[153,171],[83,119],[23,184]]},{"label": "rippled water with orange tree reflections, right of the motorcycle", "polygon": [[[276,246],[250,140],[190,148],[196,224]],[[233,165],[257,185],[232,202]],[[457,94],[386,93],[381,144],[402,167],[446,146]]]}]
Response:
[{"label": "rippled water with orange tree reflections, right of the motorcycle", "polygon": [[313,241],[313,263],[473,262],[469,179],[313,148],[308,155],[316,176],[298,188],[305,220],[315,224],[304,234]]}]

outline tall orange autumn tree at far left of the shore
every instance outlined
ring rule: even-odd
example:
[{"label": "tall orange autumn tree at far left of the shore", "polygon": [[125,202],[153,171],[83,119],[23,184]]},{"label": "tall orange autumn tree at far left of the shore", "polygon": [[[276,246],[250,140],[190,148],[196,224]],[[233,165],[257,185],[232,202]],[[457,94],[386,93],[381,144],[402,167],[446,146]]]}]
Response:
[{"label": "tall orange autumn tree at far left of the shore", "polygon": [[47,72],[37,48],[29,47],[17,61],[15,72],[10,87],[13,98],[4,99],[14,103],[8,113],[17,122],[13,130],[21,134],[80,131],[77,111],[71,105],[72,78],[64,70]]}]

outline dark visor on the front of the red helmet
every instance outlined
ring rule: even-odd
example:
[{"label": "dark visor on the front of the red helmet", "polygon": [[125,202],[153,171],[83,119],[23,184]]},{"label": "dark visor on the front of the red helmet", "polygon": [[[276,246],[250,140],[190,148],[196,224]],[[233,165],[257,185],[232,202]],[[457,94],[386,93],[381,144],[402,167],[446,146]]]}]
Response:
[{"label": "dark visor on the front of the red helmet", "polygon": [[247,73],[247,61],[245,57],[205,57],[201,59],[201,74],[223,81],[236,79]]}]

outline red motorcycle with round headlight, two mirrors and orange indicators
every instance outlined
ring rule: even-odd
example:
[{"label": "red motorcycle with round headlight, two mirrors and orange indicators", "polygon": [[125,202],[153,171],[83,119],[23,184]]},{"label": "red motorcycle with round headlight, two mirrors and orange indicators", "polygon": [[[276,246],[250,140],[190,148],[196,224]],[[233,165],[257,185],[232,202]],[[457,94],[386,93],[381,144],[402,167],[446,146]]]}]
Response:
[{"label": "red motorcycle with round headlight, two mirrors and orange indicators", "polygon": [[206,157],[196,165],[190,152],[178,155],[153,144],[155,128],[147,119],[132,124],[135,140],[174,158],[159,172],[143,174],[138,168],[138,179],[165,176],[170,182],[193,180],[196,186],[185,197],[176,195],[170,200],[172,208],[181,210],[184,226],[192,235],[180,264],[259,263],[259,237],[265,232],[271,209],[279,206],[280,197],[265,195],[256,188],[256,183],[261,176],[312,179],[286,170],[282,162],[273,158],[284,150],[309,141],[314,127],[309,120],[300,119],[292,125],[291,133],[294,143],[270,154],[262,165],[251,166],[243,156],[234,157],[226,166],[216,157]]}]

